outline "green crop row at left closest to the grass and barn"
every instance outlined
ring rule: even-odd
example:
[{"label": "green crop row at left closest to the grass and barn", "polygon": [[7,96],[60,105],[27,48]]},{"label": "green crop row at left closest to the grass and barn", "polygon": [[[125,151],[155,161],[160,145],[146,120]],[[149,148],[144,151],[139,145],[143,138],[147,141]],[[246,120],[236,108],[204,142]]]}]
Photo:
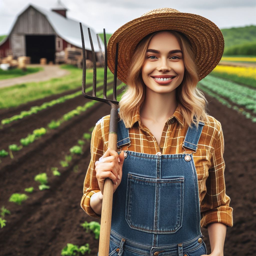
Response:
[{"label": "green crop row at left closest to the grass and barn", "polygon": [[[108,79],[107,80],[107,83],[113,81],[113,77]],[[99,87],[102,87],[103,86],[103,83],[102,81],[100,81],[98,84],[97,84],[97,88]],[[93,88],[93,86],[90,86],[88,88],[86,88],[86,91],[91,91]],[[14,116],[11,116],[10,118],[5,118],[5,119],[2,119],[1,120],[1,124],[2,124],[2,127],[3,125],[5,124],[9,124],[13,121],[16,121],[16,120],[19,120],[19,119],[23,119],[25,116],[29,116],[29,115],[32,115],[32,114],[36,114],[37,112],[41,111],[41,110],[44,110],[48,107],[51,107],[51,106],[54,106],[56,104],[60,104],[60,103],[63,103],[67,100],[70,100],[70,99],[73,99],[77,96],[81,95],[81,90],[75,92],[75,93],[71,93],[71,94],[68,94],[68,95],[64,95],[58,99],[55,99],[55,100],[51,100],[51,101],[48,101],[48,102],[44,102],[43,104],[41,104],[40,106],[32,106],[30,108],[30,110],[28,111],[21,111],[20,114],[18,115],[14,115]],[[2,128],[1,127],[1,128]]]}]

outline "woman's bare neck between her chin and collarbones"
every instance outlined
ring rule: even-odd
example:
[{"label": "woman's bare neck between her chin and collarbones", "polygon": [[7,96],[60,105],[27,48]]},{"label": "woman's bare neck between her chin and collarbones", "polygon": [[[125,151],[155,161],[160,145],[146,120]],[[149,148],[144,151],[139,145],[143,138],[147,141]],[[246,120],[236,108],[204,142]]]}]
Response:
[{"label": "woman's bare neck between her chin and collarbones", "polygon": [[175,92],[176,89],[170,93],[157,93],[146,87],[140,116],[152,122],[166,122],[178,106]]}]

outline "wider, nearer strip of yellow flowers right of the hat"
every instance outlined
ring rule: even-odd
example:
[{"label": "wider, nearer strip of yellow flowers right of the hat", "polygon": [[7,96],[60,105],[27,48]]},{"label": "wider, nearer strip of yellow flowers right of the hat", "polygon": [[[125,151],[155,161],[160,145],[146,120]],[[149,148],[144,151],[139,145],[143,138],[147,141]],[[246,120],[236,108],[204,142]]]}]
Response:
[{"label": "wider, nearer strip of yellow flowers right of the hat", "polygon": [[214,70],[212,70],[212,72],[228,73],[237,75],[239,77],[249,77],[256,79],[256,68],[253,67],[232,67],[217,65],[217,67]]}]

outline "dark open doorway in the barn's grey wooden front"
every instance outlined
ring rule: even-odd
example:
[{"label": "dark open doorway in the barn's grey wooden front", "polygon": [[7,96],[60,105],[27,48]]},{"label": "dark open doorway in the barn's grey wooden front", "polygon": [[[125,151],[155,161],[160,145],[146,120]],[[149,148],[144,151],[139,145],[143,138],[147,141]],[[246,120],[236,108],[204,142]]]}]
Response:
[{"label": "dark open doorway in the barn's grey wooden front", "polygon": [[40,58],[55,63],[55,35],[26,35],[26,56],[31,63],[40,63]]}]

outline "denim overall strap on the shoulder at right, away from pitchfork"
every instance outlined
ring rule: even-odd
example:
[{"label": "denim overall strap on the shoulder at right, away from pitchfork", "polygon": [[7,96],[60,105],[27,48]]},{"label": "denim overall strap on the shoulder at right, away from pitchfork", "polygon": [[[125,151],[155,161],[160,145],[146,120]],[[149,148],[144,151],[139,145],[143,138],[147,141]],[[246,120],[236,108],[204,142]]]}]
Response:
[{"label": "denim overall strap on the shoulder at right, away from pitchfork", "polygon": [[189,148],[191,150],[196,151],[197,148],[198,148],[197,144],[198,144],[198,141],[199,141],[199,138],[201,136],[201,133],[202,133],[202,130],[203,130],[203,127],[204,127],[205,123],[199,121],[198,129],[196,129],[196,125],[194,123],[191,123],[191,125],[192,125],[193,128],[191,129],[190,127],[188,127],[188,131],[187,131],[185,140],[182,144],[182,147],[183,148],[186,147],[186,148]]}]

